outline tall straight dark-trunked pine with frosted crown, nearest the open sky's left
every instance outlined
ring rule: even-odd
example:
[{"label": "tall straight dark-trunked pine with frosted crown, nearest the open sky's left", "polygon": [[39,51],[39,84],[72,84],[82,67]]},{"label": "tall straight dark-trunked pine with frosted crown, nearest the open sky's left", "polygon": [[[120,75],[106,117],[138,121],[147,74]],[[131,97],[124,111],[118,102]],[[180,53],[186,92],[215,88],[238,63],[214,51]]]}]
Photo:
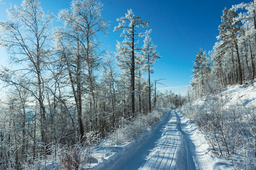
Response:
[{"label": "tall straight dark-trunked pine with frosted crown, nearest the open sky's left", "polygon": [[131,110],[132,116],[135,114],[135,60],[137,49],[136,36],[143,36],[146,33],[137,33],[136,27],[147,27],[149,22],[143,21],[141,17],[134,15],[131,9],[128,9],[125,17],[117,19],[119,25],[114,28],[114,31],[122,29],[120,36],[125,39],[117,44],[117,59],[122,62],[122,65],[130,71],[130,93],[131,93]]}]

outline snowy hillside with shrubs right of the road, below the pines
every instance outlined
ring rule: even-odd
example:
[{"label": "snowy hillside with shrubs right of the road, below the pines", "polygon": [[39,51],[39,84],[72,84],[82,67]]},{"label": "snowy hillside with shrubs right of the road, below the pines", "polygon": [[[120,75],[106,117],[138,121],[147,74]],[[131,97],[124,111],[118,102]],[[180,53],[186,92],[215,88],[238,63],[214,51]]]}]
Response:
[{"label": "snowy hillside with shrubs right of the road, below the pines", "polygon": [[[254,81],[256,84],[256,81]],[[235,169],[256,165],[256,87],[228,85],[180,109],[205,136],[211,153],[227,159]]]}]

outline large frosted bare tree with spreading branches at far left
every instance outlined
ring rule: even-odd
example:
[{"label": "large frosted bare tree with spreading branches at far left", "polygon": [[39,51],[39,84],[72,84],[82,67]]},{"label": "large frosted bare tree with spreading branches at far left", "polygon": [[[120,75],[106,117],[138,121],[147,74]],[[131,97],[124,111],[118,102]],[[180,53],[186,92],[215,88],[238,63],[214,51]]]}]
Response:
[{"label": "large frosted bare tree with spreading branches at far left", "polygon": [[[27,89],[40,105],[41,140],[47,143],[47,124],[45,106],[46,58],[50,56],[50,29],[53,20],[51,14],[46,15],[38,0],[23,0],[21,7],[11,6],[7,10],[8,21],[0,22],[0,45],[5,47],[13,57],[13,61],[23,65],[18,70],[5,70],[23,77],[21,83],[6,76],[4,81]],[[27,88],[31,85],[31,88]]]}]

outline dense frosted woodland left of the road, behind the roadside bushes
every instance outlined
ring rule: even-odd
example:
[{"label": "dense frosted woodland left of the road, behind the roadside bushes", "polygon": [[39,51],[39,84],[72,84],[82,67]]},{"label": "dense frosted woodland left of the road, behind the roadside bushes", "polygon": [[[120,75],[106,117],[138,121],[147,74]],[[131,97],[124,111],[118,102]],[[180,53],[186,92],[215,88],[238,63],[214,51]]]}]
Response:
[{"label": "dense frosted woodland left of the road, behind the roadside bushes", "polygon": [[[102,10],[98,0],[73,0],[57,16],[38,0],[7,10],[8,21],[0,22],[0,45],[11,60],[0,70],[0,169],[34,169],[35,160],[56,157],[57,149],[98,143],[121,120],[132,124],[157,106],[184,102],[157,91],[150,79],[161,57],[149,22],[129,9],[114,29],[123,41],[110,53],[101,48],[101,36],[113,31]],[[79,167],[61,161],[67,169]]]}]

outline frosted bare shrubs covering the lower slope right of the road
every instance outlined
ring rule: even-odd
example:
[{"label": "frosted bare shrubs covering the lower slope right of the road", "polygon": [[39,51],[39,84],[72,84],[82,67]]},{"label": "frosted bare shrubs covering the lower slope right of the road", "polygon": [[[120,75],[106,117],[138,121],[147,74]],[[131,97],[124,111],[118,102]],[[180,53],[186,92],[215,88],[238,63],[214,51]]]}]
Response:
[{"label": "frosted bare shrubs covering the lower slope right of the road", "polygon": [[256,165],[256,107],[243,103],[224,107],[225,99],[215,95],[202,105],[186,103],[180,111],[194,120],[216,156],[233,161],[237,169]]}]

